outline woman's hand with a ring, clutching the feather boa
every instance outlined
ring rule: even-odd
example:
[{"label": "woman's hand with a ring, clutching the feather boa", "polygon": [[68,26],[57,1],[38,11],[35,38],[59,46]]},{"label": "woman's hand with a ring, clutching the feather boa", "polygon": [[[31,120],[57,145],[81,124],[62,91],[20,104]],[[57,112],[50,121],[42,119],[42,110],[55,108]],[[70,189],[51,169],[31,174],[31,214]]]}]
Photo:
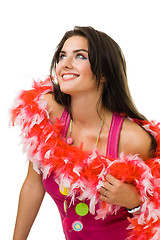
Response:
[{"label": "woman's hand with a ring, clutching the feather boa", "polygon": [[132,184],[121,182],[112,175],[106,175],[103,187],[99,189],[100,200],[129,209],[141,204],[140,194]]}]

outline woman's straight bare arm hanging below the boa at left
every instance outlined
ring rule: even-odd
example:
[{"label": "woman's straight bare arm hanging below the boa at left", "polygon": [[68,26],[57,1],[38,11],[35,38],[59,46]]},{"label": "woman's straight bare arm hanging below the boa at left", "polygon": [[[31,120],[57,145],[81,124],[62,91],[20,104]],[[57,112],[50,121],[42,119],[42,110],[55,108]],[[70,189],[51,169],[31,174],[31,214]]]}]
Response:
[{"label": "woman's straight bare arm hanging below the boa at left", "polygon": [[41,175],[29,163],[28,174],[22,186],[13,240],[26,240],[42,203],[45,190]]}]

